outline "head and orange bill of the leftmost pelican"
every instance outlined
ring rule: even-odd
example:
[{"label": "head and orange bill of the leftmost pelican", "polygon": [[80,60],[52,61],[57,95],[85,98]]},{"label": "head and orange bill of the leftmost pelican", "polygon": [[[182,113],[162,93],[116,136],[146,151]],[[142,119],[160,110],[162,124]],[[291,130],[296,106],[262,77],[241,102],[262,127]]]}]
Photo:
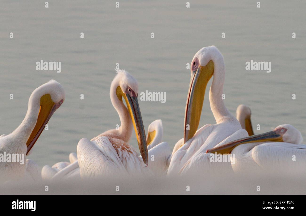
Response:
[{"label": "head and orange bill of the leftmost pelican", "polygon": [[[29,98],[28,112],[20,127],[34,125],[27,140],[27,154],[34,146],[45,125],[65,100],[64,87],[55,80],[39,86]],[[34,124],[32,124],[34,123]]]}]

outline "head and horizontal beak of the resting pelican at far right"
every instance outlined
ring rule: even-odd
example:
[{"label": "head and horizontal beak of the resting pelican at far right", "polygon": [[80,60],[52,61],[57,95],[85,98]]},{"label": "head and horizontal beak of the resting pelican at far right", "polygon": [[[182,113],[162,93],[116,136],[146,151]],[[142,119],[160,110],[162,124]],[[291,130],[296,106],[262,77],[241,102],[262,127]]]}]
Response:
[{"label": "head and horizontal beak of the resting pelican at far right", "polygon": [[206,151],[206,153],[217,152],[227,154],[230,153],[236,146],[250,142],[258,142],[258,144],[262,142],[289,142],[293,144],[300,144],[302,141],[303,137],[300,131],[290,124],[282,124],[276,127],[273,131],[237,139],[222,146],[209,149]]}]

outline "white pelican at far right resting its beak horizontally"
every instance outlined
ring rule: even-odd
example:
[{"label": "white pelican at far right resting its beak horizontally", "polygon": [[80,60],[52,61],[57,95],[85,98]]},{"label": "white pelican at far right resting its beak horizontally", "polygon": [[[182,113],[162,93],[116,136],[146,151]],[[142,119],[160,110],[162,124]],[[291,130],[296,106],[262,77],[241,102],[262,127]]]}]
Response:
[{"label": "white pelican at far right resting its beak horizontally", "polygon": [[306,173],[306,145],[300,131],[289,124],[273,131],[219,145],[207,153],[235,154],[234,172]]}]

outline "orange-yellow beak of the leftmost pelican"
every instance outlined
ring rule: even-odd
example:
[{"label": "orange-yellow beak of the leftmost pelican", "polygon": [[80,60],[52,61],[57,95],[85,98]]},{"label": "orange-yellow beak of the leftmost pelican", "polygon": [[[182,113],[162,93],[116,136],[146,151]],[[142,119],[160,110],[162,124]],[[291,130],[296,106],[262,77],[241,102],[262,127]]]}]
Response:
[{"label": "orange-yellow beak of the leftmost pelican", "polygon": [[48,123],[55,110],[57,110],[62,105],[63,101],[64,100],[62,99],[58,103],[54,103],[50,94],[45,94],[40,98],[40,109],[37,117],[37,122],[27,141],[27,154],[34,146],[40,134],[43,132],[45,125]]}]

